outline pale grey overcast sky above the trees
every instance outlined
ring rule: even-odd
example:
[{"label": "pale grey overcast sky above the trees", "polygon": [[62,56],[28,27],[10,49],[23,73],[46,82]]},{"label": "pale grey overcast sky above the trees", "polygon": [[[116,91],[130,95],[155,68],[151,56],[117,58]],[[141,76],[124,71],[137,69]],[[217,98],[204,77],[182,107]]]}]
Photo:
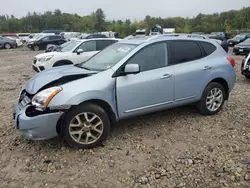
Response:
[{"label": "pale grey overcast sky above the trees", "polygon": [[[88,15],[102,8],[107,19],[144,19],[146,15],[193,17],[250,6],[250,0],[0,0],[0,15],[21,17],[28,11],[62,12]],[[4,5],[4,6],[3,6]]]}]

